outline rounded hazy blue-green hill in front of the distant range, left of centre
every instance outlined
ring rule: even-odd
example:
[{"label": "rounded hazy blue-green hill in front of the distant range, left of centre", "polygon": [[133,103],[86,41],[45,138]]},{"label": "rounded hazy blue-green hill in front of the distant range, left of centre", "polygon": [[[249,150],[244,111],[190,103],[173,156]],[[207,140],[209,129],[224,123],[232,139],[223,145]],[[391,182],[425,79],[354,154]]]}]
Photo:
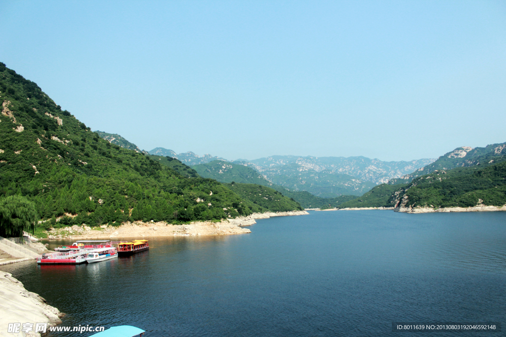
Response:
[{"label": "rounded hazy blue-green hill in front of the distant range, left of centre", "polygon": [[255,169],[250,167],[214,160],[207,164],[194,165],[192,168],[204,178],[212,178],[221,182],[238,182],[270,186],[272,183],[265,179]]}]

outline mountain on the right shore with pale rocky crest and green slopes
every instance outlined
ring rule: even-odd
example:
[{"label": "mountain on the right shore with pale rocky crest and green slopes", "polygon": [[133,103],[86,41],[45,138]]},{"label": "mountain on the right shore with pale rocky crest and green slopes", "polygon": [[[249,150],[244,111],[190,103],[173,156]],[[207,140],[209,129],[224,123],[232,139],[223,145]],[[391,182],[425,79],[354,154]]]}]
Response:
[{"label": "mountain on the right shore with pale rocky crest and green slopes", "polygon": [[440,211],[445,207],[506,204],[506,142],[460,147],[411,174],[377,185],[346,207],[395,207],[396,211]]}]

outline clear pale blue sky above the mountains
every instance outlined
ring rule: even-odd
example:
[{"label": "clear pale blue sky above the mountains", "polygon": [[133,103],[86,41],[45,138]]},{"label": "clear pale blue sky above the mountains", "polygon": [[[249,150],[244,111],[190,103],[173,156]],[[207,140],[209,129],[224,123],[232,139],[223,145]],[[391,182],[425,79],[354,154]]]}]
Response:
[{"label": "clear pale blue sky above the mountains", "polygon": [[411,160],[506,141],[502,1],[0,8],[0,61],[141,149]]}]

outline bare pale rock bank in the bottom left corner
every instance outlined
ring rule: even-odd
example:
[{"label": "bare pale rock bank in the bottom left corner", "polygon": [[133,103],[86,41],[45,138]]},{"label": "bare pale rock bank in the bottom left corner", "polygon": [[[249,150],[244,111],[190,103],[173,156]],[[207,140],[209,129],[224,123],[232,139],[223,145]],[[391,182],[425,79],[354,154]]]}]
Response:
[{"label": "bare pale rock bank in the bottom left corner", "polygon": [[[60,324],[60,318],[65,316],[47,304],[44,298],[27,291],[23,283],[5,271],[0,271],[0,312],[0,336],[40,337],[40,333],[35,332],[35,323],[54,326]],[[33,330],[25,333],[21,330],[21,325],[18,333],[9,333],[9,323],[33,323]]]}]

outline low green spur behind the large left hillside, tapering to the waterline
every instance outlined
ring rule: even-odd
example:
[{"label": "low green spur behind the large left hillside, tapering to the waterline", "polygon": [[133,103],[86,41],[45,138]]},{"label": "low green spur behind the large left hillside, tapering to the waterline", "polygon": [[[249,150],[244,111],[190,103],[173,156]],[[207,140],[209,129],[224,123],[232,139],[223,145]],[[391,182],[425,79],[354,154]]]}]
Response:
[{"label": "low green spur behind the large left hillside, tapering to the waterline", "polygon": [[230,183],[227,186],[241,198],[255,203],[266,211],[287,212],[294,209],[303,210],[299,203],[267,186],[241,183]]}]

